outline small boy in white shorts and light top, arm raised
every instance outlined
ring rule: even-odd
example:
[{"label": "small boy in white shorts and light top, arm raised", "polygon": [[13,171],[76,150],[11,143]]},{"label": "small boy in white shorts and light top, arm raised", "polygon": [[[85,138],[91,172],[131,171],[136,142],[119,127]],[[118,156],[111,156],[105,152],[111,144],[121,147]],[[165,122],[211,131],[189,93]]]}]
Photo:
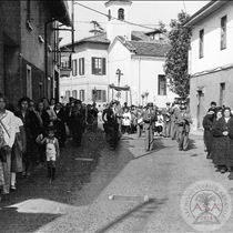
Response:
[{"label": "small boy in white shorts and light top, arm raised", "polygon": [[39,143],[45,143],[48,178],[55,179],[55,161],[60,156],[59,141],[54,136],[55,131],[52,126],[48,129],[48,136],[42,139]]}]

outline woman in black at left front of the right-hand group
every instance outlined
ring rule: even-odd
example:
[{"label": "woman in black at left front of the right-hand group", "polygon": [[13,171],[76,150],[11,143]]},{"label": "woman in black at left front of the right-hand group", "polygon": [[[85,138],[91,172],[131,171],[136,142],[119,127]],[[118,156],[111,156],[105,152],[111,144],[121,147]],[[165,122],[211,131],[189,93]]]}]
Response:
[{"label": "woman in black at left front of the right-hand group", "polygon": [[212,159],[212,144],[213,144],[213,133],[212,129],[215,122],[215,112],[213,109],[207,110],[207,114],[203,119],[203,128],[204,128],[204,144],[207,150],[206,159]]}]

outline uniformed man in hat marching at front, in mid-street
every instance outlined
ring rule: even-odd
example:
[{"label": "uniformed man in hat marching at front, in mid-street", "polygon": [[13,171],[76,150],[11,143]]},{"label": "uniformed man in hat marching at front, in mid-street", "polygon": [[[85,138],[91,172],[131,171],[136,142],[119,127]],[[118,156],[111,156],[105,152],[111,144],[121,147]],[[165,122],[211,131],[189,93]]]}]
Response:
[{"label": "uniformed man in hat marching at front, in mid-street", "polygon": [[153,103],[148,103],[146,110],[143,112],[143,122],[145,130],[145,151],[153,150],[153,138],[154,138],[154,124],[156,121],[156,114],[153,110]]}]

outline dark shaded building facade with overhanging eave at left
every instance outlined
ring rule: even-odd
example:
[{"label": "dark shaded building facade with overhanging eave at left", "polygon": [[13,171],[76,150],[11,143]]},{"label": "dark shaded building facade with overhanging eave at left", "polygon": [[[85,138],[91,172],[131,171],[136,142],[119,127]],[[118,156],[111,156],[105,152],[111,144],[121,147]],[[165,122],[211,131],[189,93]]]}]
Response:
[{"label": "dark shaded building facade with overhanging eave at left", "polygon": [[0,92],[17,104],[59,97],[58,21],[71,26],[65,1],[0,2]]}]

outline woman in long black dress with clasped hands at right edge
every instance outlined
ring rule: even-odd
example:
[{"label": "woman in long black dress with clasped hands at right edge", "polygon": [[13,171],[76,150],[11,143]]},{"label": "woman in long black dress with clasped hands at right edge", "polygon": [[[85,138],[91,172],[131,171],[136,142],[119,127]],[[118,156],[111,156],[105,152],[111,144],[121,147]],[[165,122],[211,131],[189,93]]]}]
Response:
[{"label": "woman in long black dress with clasped hands at right edge", "polygon": [[233,118],[231,109],[225,108],[223,118],[216,121],[213,126],[213,135],[216,138],[213,151],[214,163],[219,166],[221,173],[231,171],[229,179],[233,180]]}]

